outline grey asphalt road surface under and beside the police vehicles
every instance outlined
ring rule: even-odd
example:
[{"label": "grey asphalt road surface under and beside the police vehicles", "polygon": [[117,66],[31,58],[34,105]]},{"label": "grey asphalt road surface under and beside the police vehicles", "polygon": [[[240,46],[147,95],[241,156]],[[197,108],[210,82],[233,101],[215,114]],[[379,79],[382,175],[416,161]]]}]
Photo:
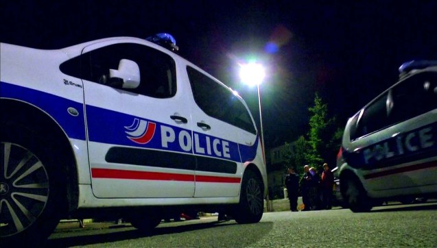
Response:
[{"label": "grey asphalt road surface under and beside the police vehicles", "polygon": [[47,247],[437,247],[437,202],[349,209],[268,212],[260,223],[217,217],[161,223],[152,235],[129,223],[62,223]]}]

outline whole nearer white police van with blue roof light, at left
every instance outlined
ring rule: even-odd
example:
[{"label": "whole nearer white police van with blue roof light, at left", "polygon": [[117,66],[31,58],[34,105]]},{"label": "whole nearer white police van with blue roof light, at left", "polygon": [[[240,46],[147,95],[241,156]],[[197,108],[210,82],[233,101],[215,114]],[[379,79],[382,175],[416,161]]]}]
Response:
[{"label": "whole nearer white police van with blue roof light, at left", "polygon": [[184,211],[256,223],[265,158],[246,103],[168,34],[59,50],[0,43],[0,244],[60,219],[150,230]]}]

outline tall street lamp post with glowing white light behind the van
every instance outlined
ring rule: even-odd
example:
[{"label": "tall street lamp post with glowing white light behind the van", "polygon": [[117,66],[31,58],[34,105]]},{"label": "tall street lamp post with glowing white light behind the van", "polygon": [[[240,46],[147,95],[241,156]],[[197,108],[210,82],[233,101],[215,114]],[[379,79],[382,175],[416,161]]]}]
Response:
[{"label": "tall street lamp post with glowing white light behind the van", "polygon": [[[262,114],[262,108],[261,108],[261,90],[259,85],[263,82],[263,79],[265,77],[265,71],[264,67],[261,64],[250,62],[248,64],[241,64],[240,65],[240,72],[239,76],[241,79],[241,82],[244,84],[248,84],[249,86],[257,85],[257,92],[258,92],[258,106],[259,106],[259,126],[261,128],[261,151],[263,153],[263,161],[265,164],[265,144],[264,144],[264,134],[263,134],[263,114]],[[267,211],[272,210],[272,206],[270,203],[269,196],[267,195]]]}]

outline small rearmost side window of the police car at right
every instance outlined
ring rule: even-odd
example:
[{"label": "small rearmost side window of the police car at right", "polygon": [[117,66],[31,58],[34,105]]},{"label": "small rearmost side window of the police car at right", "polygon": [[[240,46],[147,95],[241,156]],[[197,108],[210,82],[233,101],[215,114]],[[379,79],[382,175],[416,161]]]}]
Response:
[{"label": "small rearmost side window of the police car at right", "polygon": [[364,109],[361,119],[358,120],[355,137],[362,137],[386,127],[387,120],[387,92],[370,103]]}]

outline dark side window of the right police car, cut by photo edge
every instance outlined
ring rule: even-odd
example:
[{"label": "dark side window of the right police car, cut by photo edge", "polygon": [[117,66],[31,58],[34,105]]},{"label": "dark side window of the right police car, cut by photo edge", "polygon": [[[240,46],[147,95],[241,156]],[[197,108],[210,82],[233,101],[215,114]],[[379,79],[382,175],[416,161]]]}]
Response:
[{"label": "dark side window of the right police car, cut by photo edge", "polygon": [[399,123],[437,108],[437,73],[420,73],[392,88],[390,121]]}]

